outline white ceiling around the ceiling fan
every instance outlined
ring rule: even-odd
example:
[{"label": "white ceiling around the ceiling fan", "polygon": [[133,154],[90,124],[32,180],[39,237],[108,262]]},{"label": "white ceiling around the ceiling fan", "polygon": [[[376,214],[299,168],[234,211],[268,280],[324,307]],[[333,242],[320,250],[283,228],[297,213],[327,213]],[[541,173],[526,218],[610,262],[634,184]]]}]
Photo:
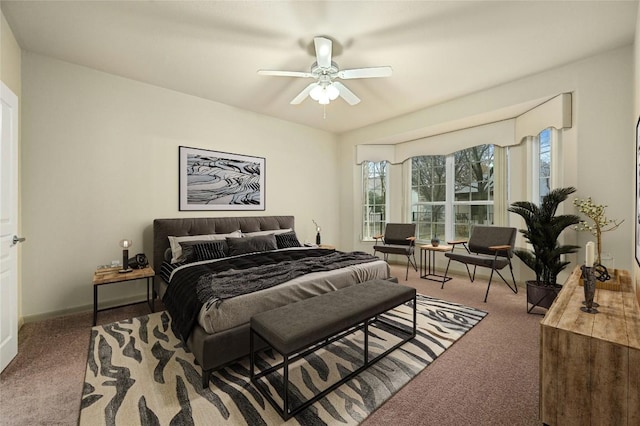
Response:
[{"label": "white ceiling around the ceiling fan", "polygon": [[[637,1],[6,1],[20,46],[97,70],[341,133],[633,43]],[[308,45],[342,45],[362,102],[290,105]]]}]

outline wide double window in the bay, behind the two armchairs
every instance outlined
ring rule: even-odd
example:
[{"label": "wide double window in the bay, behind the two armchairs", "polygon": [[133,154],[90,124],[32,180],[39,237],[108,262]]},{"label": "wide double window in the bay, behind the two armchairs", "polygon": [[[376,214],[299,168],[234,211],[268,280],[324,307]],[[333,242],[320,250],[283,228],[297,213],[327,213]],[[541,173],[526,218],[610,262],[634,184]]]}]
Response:
[{"label": "wide double window in the bay, behind the two armchairs", "polygon": [[411,220],[417,239],[466,239],[493,223],[493,145],[411,159]]}]

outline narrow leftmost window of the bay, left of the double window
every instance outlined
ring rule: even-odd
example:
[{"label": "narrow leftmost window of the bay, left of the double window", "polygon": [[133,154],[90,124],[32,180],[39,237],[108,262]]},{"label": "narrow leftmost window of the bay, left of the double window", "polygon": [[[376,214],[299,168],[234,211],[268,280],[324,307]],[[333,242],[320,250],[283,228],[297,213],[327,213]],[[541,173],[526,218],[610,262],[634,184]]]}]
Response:
[{"label": "narrow leftmost window of the bay, left of the double window", "polygon": [[372,240],[384,233],[387,223],[388,164],[386,161],[362,163],[362,239]]}]

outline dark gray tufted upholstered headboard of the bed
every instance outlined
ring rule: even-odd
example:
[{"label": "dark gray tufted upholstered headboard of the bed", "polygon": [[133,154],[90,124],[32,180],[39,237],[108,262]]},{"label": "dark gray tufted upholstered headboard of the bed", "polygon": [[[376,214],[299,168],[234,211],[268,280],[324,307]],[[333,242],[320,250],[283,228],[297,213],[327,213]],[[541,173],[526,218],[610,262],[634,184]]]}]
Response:
[{"label": "dark gray tufted upholstered headboard of the bed", "polygon": [[169,248],[168,236],[228,234],[294,229],[293,216],[196,217],[155,219],[153,221],[153,268],[160,270],[164,252]]}]

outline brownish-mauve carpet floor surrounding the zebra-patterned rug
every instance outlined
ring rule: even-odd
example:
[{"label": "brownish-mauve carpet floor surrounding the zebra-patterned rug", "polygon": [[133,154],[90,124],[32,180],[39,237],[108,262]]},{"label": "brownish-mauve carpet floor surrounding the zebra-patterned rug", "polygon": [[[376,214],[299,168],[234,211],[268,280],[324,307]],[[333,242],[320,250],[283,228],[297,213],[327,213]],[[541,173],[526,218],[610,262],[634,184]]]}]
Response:
[{"label": "brownish-mauve carpet floor surrounding the zebra-patterned rug", "polygon": [[[404,277],[404,267],[392,266]],[[370,415],[363,425],[539,425],[538,345],[542,317],[528,315],[524,290],[514,295],[486,281],[440,284],[411,271],[419,293],[489,312],[480,324]],[[99,324],[148,313],[135,305],[101,313]],[[20,330],[19,354],[0,375],[0,424],[77,424],[89,348],[91,312]]]}]

